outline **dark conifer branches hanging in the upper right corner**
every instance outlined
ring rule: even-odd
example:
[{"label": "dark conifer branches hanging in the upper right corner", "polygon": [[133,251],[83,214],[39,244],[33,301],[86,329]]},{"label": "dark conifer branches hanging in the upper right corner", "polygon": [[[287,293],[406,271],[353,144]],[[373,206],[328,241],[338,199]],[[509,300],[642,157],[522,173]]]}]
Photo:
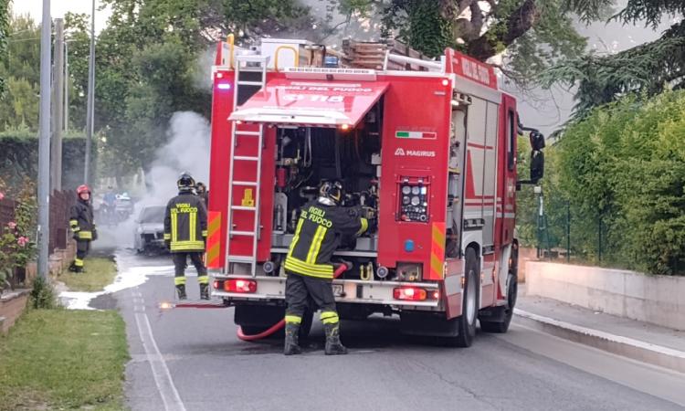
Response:
[{"label": "dark conifer branches hanging in the upper right corner", "polygon": [[[546,85],[561,82],[578,86],[577,116],[628,93],[659,94],[665,88],[685,87],[685,2],[680,0],[628,0],[616,18],[625,24],[644,22],[656,27],[663,16],[680,16],[656,41],[612,55],[572,58],[543,75]],[[677,18],[676,18],[677,19]]]}]

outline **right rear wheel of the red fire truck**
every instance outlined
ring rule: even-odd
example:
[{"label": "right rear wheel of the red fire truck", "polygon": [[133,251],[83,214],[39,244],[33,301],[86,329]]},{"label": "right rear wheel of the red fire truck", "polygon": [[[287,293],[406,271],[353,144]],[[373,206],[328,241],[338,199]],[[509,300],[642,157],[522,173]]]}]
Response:
[{"label": "right rear wheel of the red fire truck", "polygon": [[466,281],[464,282],[464,295],[461,306],[461,316],[452,320],[456,321],[458,334],[448,337],[447,344],[453,347],[470,347],[476,337],[476,321],[479,311],[479,260],[476,250],[466,250]]}]

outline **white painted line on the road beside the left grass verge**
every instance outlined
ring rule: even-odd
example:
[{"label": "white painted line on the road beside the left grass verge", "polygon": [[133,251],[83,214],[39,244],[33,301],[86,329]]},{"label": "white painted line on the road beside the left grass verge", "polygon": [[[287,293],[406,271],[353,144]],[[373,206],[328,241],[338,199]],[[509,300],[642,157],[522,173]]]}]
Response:
[{"label": "white painted line on the road beside the left grass verge", "polygon": [[[138,306],[135,308],[136,311],[139,309]],[[136,312],[134,315],[138,333],[141,336],[142,347],[145,349],[145,357],[153,370],[154,384],[157,385],[157,391],[162,396],[164,409],[166,411],[185,411],[181,395],[176,390],[169,368],[166,366],[164,357],[154,340],[153,328],[150,326],[147,314]]]}]

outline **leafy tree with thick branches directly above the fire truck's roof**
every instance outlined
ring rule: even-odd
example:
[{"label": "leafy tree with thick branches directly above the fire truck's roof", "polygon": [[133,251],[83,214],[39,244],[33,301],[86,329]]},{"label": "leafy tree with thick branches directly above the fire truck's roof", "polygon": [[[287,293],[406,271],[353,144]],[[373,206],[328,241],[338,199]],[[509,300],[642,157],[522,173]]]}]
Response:
[{"label": "leafy tree with thick branches directly above the fire truck's roof", "polygon": [[[560,58],[579,57],[578,16],[592,21],[613,0],[339,0],[362,16],[383,15],[396,35],[429,57],[454,47],[481,61],[503,56],[502,71],[520,85]],[[506,51],[506,53],[505,53]]]}]

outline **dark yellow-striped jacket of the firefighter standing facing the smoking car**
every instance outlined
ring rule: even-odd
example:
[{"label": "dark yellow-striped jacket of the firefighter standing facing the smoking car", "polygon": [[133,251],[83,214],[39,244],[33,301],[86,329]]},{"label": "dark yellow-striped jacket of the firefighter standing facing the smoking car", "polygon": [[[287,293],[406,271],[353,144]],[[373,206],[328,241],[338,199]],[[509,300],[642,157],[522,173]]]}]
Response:
[{"label": "dark yellow-striped jacket of the firefighter standing facing the smoking car", "polygon": [[207,237],[207,209],[202,198],[179,193],[169,200],[164,214],[164,240],[171,252],[204,252]]}]

